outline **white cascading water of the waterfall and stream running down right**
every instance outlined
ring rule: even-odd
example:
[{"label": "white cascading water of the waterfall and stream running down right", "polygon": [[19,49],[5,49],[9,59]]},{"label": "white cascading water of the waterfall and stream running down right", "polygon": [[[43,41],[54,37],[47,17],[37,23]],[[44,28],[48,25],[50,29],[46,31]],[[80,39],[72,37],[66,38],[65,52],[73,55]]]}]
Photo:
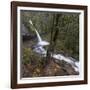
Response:
[{"label": "white cascading water of the waterfall and stream running down right", "polygon": [[[29,20],[29,23],[33,26],[33,23],[31,20]],[[33,28],[34,28],[34,26],[33,26]],[[44,56],[46,56],[47,51],[44,49],[43,46],[49,45],[49,42],[43,41],[41,36],[39,35],[38,31],[36,30],[36,28],[34,28],[34,30],[35,30],[36,35],[37,35],[38,43],[35,46],[33,51],[35,51],[36,53],[39,53],[39,54],[44,54]],[[74,70],[76,72],[79,72],[80,63],[77,60],[73,60],[72,57],[71,58],[65,57],[62,54],[53,54],[51,56],[57,60],[64,60],[65,62],[71,64],[71,66],[74,68]]]}]

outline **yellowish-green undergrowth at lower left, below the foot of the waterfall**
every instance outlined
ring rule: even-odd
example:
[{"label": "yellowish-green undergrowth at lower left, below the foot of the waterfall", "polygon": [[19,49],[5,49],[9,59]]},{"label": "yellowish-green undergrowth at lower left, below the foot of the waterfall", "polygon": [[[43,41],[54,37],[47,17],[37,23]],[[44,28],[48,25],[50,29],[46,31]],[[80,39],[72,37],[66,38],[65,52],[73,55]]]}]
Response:
[{"label": "yellowish-green undergrowth at lower left, below the foot of the waterfall", "polygon": [[39,55],[33,53],[31,48],[27,48],[27,47],[23,48],[23,62],[22,63],[26,66],[29,66],[29,70],[32,73],[32,77],[41,75],[41,70],[43,68],[44,62],[45,61],[42,60],[42,58]]}]

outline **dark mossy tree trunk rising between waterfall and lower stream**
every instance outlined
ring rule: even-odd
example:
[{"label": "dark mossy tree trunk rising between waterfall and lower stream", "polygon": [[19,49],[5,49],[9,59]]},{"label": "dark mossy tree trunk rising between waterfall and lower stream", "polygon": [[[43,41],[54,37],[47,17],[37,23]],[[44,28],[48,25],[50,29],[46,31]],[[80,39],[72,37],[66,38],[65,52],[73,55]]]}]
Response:
[{"label": "dark mossy tree trunk rising between waterfall and lower stream", "polygon": [[47,64],[50,62],[50,60],[52,60],[51,56],[54,53],[54,47],[56,45],[56,40],[59,34],[58,20],[59,20],[59,14],[54,14],[52,18],[50,45],[47,50],[47,57],[46,57]]}]

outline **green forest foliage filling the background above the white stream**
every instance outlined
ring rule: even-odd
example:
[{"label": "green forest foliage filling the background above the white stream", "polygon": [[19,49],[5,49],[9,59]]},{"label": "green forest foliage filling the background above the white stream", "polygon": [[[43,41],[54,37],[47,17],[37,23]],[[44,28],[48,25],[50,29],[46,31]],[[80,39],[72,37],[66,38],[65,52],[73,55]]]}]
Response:
[{"label": "green forest foliage filling the background above the white stream", "polygon": [[[57,17],[58,21],[55,20]],[[68,54],[69,56],[79,59],[78,13],[21,11],[21,22],[28,28],[30,34],[36,35],[32,26],[29,24],[30,19],[32,20],[35,28],[41,34],[42,39],[49,42],[52,40],[51,31],[53,32],[52,37],[54,37],[57,27],[59,31],[55,41],[54,52],[63,52],[64,54]],[[34,42],[34,40],[32,42]],[[27,61],[29,58],[27,58]]]}]

